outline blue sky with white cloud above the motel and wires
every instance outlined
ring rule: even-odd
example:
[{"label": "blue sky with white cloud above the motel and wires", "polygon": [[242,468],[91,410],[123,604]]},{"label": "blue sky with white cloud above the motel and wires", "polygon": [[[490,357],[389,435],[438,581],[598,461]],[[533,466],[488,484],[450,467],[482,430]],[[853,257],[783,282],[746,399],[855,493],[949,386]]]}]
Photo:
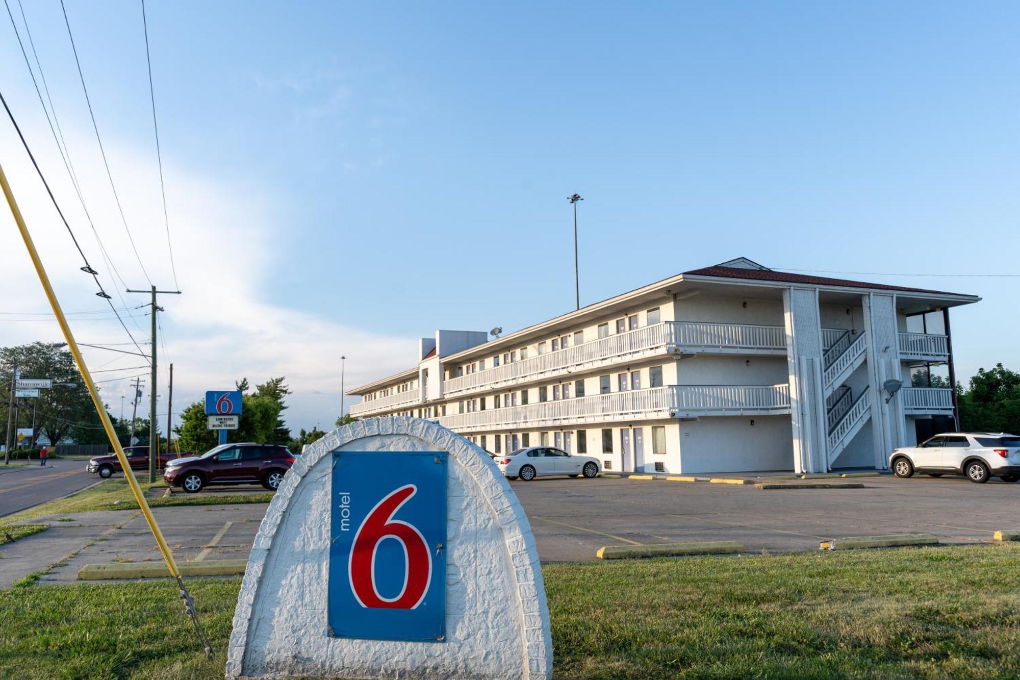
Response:
[{"label": "blue sky with white cloud above the motel and wires", "polygon": [[[168,285],[139,3],[67,4],[114,180],[134,196],[129,224]],[[147,9],[185,290],[164,327],[175,400],[287,374],[292,426],[324,426],[341,353],[350,387],[408,368],[414,338],[438,327],[511,330],[570,309],[575,191],[582,302],[737,255],[776,269],[1017,272],[1015,4]],[[99,231],[138,281],[59,3],[26,12],[75,162],[95,171]],[[0,88],[57,184],[56,147],[0,23]],[[15,190],[38,201],[44,256],[62,262],[69,242],[0,128]],[[73,205],[69,184],[57,190]],[[20,247],[8,222],[0,248]],[[4,277],[26,291],[6,306],[46,309],[31,280]],[[954,315],[960,374],[1020,369],[1020,279],[856,278],[981,295]],[[57,284],[99,308],[75,282]],[[56,333],[0,322],[0,343],[43,329]]]}]

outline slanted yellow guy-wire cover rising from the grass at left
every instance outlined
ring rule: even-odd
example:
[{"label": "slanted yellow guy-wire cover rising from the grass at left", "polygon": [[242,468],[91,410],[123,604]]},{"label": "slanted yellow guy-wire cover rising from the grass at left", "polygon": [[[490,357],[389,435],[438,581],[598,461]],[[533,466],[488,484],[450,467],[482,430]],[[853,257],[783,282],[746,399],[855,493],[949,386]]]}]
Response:
[{"label": "slanted yellow guy-wire cover rising from the grass at left", "polygon": [[170,547],[166,544],[166,540],[163,538],[163,533],[159,530],[159,525],[156,524],[156,518],[152,516],[152,511],[149,509],[149,503],[146,502],[145,496],[142,494],[142,488],[138,485],[138,480],[135,479],[135,473],[132,472],[131,465],[128,463],[126,456],[124,456],[123,448],[120,446],[120,440],[117,439],[116,432],[113,430],[113,424],[110,423],[110,417],[106,412],[106,406],[103,405],[102,400],[99,398],[99,392],[96,390],[96,385],[92,382],[92,376],[89,374],[89,369],[85,366],[85,359],[82,358],[82,352],[78,348],[78,343],[74,341],[74,336],[70,332],[70,327],[67,326],[67,320],[63,315],[63,309],[60,308],[57,296],[53,292],[53,286],[50,285],[50,279],[46,275],[46,270],[43,268],[43,261],[39,258],[39,252],[36,250],[36,244],[32,241],[32,235],[29,234],[29,228],[24,224],[24,218],[21,217],[21,210],[17,207],[17,201],[14,200],[14,194],[10,190],[10,185],[7,184],[7,176],[4,174],[2,165],[0,165],[0,186],[3,187],[4,196],[7,197],[7,204],[10,206],[10,211],[14,215],[14,222],[17,223],[18,231],[21,232],[21,239],[24,241],[24,247],[29,249],[29,256],[32,257],[32,263],[36,268],[36,274],[39,275],[39,282],[43,284],[43,290],[46,291],[46,297],[50,301],[50,306],[53,307],[53,313],[57,318],[57,323],[60,324],[60,330],[63,332],[64,339],[67,341],[67,347],[70,349],[70,353],[74,356],[74,362],[78,365],[78,370],[82,374],[82,380],[85,381],[85,386],[89,388],[89,395],[92,397],[92,402],[96,405],[96,410],[99,412],[99,420],[102,422],[103,429],[106,430],[106,436],[109,437],[110,443],[113,445],[113,451],[117,455],[117,460],[120,462],[120,467],[124,471],[124,477],[128,479],[128,484],[131,486],[132,493],[135,494],[135,500],[138,501],[139,507],[142,508],[142,513],[145,515],[145,521],[149,523],[149,529],[152,530],[152,535],[156,537],[156,543],[159,545],[159,551],[163,553],[163,560],[166,562],[166,568],[170,570],[170,576],[180,580],[181,572],[177,571],[177,564],[173,561],[173,553],[170,552]]}]

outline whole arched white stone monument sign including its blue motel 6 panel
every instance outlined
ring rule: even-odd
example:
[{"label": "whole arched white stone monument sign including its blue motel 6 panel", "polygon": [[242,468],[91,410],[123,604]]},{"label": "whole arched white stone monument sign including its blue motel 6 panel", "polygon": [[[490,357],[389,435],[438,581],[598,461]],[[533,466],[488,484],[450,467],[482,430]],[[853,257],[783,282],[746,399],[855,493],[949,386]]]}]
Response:
[{"label": "whole arched white stone monument sign including its blue motel 6 panel", "polygon": [[339,428],[252,546],[227,678],[552,675],[534,538],[492,459],[412,418]]}]

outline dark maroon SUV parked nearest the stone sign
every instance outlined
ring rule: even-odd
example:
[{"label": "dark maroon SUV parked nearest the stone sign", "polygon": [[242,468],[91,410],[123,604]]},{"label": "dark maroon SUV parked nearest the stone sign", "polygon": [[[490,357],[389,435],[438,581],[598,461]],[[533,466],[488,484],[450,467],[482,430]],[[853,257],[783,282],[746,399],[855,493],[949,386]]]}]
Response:
[{"label": "dark maroon SUV parked nearest the stone sign", "polygon": [[163,473],[168,486],[197,493],[214,484],[261,484],[279,488],[294,454],[276,444],[223,444],[199,456],[170,460]]}]

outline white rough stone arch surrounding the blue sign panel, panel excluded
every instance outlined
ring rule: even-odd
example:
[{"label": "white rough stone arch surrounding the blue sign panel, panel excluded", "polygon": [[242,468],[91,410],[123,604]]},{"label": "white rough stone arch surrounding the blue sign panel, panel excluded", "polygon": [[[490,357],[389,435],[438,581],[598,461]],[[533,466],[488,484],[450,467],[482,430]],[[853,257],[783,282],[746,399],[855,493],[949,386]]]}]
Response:
[{"label": "white rough stone arch surrounding the blue sign panel, panel excluded", "polygon": [[[333,451],[435,451],[447,465],[444,642],[329,637]],[[248,557],[226,677],[550,678],[553,645],[534,537],[489,455],[429,421],[376,418],[307,447]]]}]

